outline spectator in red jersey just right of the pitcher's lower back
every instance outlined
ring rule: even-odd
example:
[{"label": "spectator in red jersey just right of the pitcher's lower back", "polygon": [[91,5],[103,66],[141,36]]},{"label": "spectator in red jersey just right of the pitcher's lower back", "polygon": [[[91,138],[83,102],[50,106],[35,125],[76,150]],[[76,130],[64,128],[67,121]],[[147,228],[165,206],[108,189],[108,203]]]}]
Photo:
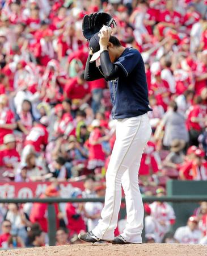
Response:
[{"label": "spectator in red jersey just right of the pitcher's lower back", "polygon": [[157,99],[157,104],[167,110],[168,102],[170,102],[170,88],[168,82],[162,80],[161,71],[154,73],[155,81],[151,84],[151,90]]}]

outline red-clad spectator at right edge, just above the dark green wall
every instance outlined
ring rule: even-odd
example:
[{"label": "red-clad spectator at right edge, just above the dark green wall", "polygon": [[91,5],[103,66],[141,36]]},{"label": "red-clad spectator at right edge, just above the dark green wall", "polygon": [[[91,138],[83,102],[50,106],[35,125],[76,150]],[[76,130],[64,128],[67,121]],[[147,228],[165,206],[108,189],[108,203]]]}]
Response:
[{"label": "red-clad spectator at right edge, just above the dark green wall", "polygon": [[195,151],[196,158],[187,161],[180,168],[180,177],[184,180],[207,180],[207,162],[205,152],[197,149]]}]

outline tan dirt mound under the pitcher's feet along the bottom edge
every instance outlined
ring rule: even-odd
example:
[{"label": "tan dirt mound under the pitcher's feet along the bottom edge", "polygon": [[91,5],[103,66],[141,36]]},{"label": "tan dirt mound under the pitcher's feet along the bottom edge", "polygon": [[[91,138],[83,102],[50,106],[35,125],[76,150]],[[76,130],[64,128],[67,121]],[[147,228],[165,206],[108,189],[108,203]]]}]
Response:
[{"label": "tan dirt mound under the pitcher's feet along the bottom edge", "polygon": [[18,250],[1,251],[2,256],[91,256],[91,255],[119,255],[119,256],[207,256],[205,245],[181,245],[178,243],[143,243],[142,245],[111,245],[111,244],[80,244],[50,246]]}]

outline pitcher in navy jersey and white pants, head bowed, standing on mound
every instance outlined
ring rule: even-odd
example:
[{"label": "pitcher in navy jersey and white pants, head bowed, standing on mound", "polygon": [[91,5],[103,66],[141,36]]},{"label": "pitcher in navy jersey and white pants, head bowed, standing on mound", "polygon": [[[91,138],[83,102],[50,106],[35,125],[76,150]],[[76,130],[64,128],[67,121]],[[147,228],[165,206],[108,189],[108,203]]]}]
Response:
[{"label": "pitcher in navy jersey and white pants, head bowed, standing on mound", "polygon": [[[103,26],[89,42],[85,79],[109,81],[112,118],[117,119],[116,142],[106,173],[105,205],[98,225],[79,234],[86,242],[113,244],[142,243],[143,204],[138,186],[138,170],[143,148],[151,135],[145,67],[140,52],[121,46]],[[100,65],[97,65],[100,63]],[[121,185],[126,200],[126,228],[114,237],[121,204]]]}]

